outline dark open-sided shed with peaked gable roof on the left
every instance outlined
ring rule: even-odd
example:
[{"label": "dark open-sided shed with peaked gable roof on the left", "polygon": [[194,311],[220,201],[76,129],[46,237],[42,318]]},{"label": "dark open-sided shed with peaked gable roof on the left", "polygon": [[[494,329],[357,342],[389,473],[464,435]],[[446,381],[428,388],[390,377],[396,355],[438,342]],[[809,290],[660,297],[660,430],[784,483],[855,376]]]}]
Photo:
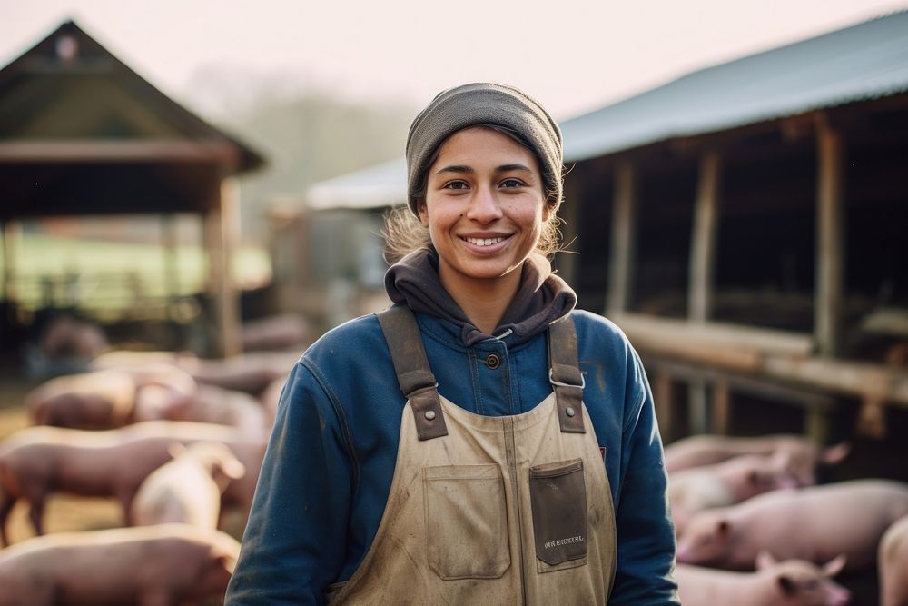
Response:
[{"label": "dark open-sided shed with peaked gable roof on the left", "polygon": [[[262,157],[137,75],[73,22],[0,70],[0,300],[26,217],[198,214],[218,313],[215,349],[236,353],[239,303],[227,272],[239,234],[230,177]],[[165,224],[172,224],[172,222]]]}]

